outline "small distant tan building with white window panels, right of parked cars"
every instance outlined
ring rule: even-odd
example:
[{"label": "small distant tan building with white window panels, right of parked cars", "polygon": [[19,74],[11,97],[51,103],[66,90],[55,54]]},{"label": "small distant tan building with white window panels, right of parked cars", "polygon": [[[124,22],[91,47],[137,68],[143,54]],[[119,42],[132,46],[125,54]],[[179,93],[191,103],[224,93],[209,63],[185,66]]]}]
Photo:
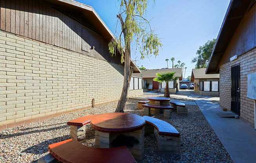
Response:
[{"label": "small distant tan building with white window panels, right of parked cars", "polygon": [[219,74],[205,74],[205,68],[192,69],[194,91],[203,96],[219,97]]}]

